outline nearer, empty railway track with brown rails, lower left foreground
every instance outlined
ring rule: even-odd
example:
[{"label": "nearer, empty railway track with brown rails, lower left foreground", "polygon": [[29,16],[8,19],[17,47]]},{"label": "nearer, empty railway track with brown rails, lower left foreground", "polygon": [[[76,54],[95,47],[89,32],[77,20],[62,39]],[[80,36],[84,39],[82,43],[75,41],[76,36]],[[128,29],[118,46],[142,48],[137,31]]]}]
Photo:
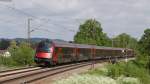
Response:
[{"label": "nearer, empty railway track with brown rails, lower left foreground", "polygon": [[81,63],[51,67],[51,68],[40,68],[34,70],[31,69],[29,71],[24,71],[23,73],[16,72],[9,75],[3,74],[3,76],[0,77],[0,84],[31,83],[42,78],[46,78],[55,74],[59,74],[65,71],[80,68],[90,64],[91,63],[89,62],[81,62]]}]

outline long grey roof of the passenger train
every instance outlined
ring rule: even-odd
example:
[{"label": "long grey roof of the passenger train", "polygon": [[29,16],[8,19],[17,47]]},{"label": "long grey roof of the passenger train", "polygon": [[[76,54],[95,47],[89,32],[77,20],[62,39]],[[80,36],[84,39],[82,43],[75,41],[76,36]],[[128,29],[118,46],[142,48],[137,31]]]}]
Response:
[{"label": "long grey roof of the passenger train", "polygon": [[[52,43],[55,47],[68,47],[68,48],[95,48],[95,49],[102,49],[102,50],[125,50],[125,48],[112,48],[112,47],[104,47],[104,46],[96,46],[96,45],[86,45],[86,44],[75,44],[69,42],[61,42],[53,40]],[[128,49],[131,50],[131,49]]]}]

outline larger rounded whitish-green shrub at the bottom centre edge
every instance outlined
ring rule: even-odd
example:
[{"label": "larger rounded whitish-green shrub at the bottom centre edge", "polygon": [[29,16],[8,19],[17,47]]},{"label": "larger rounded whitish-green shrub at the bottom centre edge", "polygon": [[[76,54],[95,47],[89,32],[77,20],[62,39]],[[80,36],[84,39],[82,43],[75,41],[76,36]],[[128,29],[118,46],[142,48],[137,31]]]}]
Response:
[{"label": "larger rounded whitish-green shrub at the bottom centre edge", "polygon": [[73,75],[67,79],[56,81],[54,84],[116,84],[116,81],[109,77],[95,75]]}]

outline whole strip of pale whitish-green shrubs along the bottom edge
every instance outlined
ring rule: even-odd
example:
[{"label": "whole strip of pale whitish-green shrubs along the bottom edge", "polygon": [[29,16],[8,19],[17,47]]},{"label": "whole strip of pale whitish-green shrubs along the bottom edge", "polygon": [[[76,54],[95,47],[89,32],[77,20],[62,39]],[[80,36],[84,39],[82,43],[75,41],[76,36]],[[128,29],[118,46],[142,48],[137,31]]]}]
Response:
[{"label": "whole strip of pale whitish-green shrubs along the bottom edge", "polygon": [[119,77],[114,80],[106,76],[83,74],[61,79],[54,84],[140,84],[140,82],[136,78],[131,77]]}]

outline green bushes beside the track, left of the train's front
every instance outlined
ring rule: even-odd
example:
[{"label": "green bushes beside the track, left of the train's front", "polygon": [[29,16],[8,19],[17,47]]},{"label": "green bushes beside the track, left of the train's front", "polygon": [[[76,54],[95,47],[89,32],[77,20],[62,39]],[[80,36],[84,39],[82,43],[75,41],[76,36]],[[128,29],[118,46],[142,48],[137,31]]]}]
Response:
[{"label": "green bushes beside the track, left of the train's front", "polygon": [[27,43],[21,43],[19,46],[13,42],[9,47],[11,57],[1,57],[0,63],[6,66],[27,66],[34,63],[34,50]]}]

